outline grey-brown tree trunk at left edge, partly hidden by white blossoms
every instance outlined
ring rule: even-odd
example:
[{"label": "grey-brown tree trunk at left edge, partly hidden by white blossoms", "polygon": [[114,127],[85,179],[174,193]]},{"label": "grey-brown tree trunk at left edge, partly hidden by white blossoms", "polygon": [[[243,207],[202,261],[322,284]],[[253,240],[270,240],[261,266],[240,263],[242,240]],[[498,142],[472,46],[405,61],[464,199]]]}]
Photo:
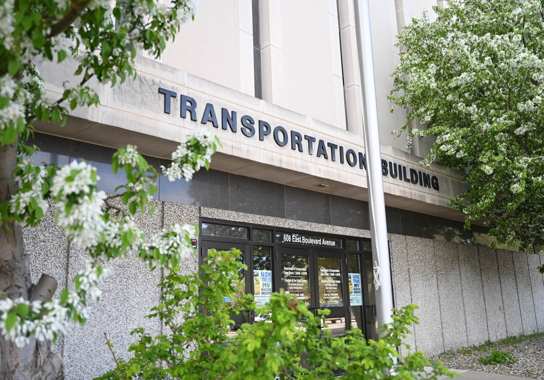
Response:
[{"label": "grey-brown tree trunk at left edge, partly hidden by white blossoms", "polygon": [[[17,165],[17,142],[0,147],[0,203],[9,199],[17,188],[11,173]],[[11,299],[29,299],[32,281],[30,259],[24,250],[21,225],[8,223],[0,227],[0,291]],[[17,349],[13,342],[0,335],[0,379],[63,379],[63,361],[58,353],[51,351],[51,344],[30,337],[25,347]]]}]

